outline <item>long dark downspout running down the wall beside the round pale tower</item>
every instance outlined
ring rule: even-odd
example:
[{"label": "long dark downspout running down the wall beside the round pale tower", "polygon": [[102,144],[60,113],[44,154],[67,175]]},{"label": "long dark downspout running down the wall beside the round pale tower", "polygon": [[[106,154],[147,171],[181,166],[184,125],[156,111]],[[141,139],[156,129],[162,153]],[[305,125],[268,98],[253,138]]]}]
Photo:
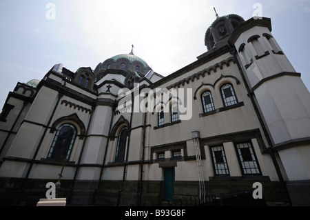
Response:
[{"label": "long dark downspout running down the wall beside the round pale tower", "polygon": [[260,121],[260,126],[262,127],[262,131],[264,132],[264,135],[265,135],[265,137],[267,139],[267,142],[268,142],[268,145],[269,145],[269,148],[267,148],[267,150],[269,151],[269,154],[270,154],[272,162],[273,162],[273,166],[275,167],[276,172],[278,174],[278,178],[279,178],[280,184],[282,186],[282,190],[287,195],[287,201],[286,202],[287,202],[288,206],[291,206],[291,197],[289,196],[289,191],[287,190],[287,184],[285,183],[285,180],[284,180],[284,178],[282,176],[282,172],[280,170],[280,166],[279,166],[278,161],[276,159],[276,155],[273,152],[273,142],[271,141],[271,137],[269,136],[269,133],[267,132],[266,125],[265,125],[265,123],[264,123],[264,121],[262,119],[262,115],[260,114],[260,112],[258,110],[258,106],[256,105],[256,102],[254,100],[253,94],[252,94],[252,92],[251,92],[251,90],[249,88],[247,80],[245,79],[245,74],[243,74],[243,71],[242,71],[242,69],[240,67],[240,64],[238,62],[238,58],[236,56],[236,49],[235,48],[230,48],[230,53],[233,54],[234,58],[236,59],[238,70],[239,70],[240,75],[242,77],[242,81],[245,83],[245,88],[247,88],[247,94],[249,95],[249,98],[251,99],[251,103],[252,103],[252,105],[254,107],[254,110],[256,112],[256,115],[258,117],[258,121]]}]

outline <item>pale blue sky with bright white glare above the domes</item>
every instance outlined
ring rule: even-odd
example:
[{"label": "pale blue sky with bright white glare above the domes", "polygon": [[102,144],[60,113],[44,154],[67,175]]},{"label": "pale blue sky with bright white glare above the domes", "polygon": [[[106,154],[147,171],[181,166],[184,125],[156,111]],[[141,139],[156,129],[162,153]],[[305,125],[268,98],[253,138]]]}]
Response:
[{"label": "pale blue sky with bright white glare above the domes", "polygon": [[[56,63],[75,72],[134,53],[166,76],[207,51],[218,14],[271,18],[273,37],[310,90],[310,0],[0,0],[0,110],[17,82],[41,80]],[[55,19],[47,19],[48,3]]]}]

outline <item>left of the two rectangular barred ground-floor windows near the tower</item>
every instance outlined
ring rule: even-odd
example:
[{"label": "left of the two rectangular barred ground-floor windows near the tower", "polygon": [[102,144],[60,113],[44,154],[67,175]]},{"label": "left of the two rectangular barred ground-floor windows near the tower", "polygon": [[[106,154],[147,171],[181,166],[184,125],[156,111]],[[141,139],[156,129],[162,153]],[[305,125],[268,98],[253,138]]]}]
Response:
[{"label": "left of the two rectangular barred ground-floor windows near the tower", "polygon": [[223,146],[212,147],[211,157],[216,176],[229,175],[229,170]]}]

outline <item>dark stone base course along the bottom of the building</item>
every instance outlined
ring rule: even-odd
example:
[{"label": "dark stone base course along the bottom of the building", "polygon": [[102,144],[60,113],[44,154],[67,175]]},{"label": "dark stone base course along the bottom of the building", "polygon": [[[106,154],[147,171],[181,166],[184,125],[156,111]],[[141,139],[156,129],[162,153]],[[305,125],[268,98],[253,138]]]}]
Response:
[{"label": "dark stone base course along the bottom of the building", "polygon": [[[258,181],[258,180],[256,180]],[[205,181],[206,196],[253,189],[255,179],[211,178]],[[0,206],[36,206],[45,198],[51,180],[0,178]],[[260,179],[267,206],[285,206],[285,191],[280,183]],[[165,206],[163,181],[61,181],[56,197],[67,198],[67,206]],[[293,206],[309,206],[310,181],[289,181],[287,188]],[[173,203],[199,201],[198,181],[175,181]],[[191,203],[194,205],[195,203]]]}]

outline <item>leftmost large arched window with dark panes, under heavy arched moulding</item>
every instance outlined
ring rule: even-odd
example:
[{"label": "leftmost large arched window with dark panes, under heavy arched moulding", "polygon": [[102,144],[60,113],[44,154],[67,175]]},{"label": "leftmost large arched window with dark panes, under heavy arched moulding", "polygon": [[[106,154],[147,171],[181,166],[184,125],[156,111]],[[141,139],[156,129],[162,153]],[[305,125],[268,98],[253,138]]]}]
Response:
[{"label": "leftmost large arched window with dark panes, under heavy arched moulding", "polygon": [[63,160],[69,159],[76,129],[70,123],[64,123],[59,127],[54,137],[54,141],[48,153],[48,159]]}]

